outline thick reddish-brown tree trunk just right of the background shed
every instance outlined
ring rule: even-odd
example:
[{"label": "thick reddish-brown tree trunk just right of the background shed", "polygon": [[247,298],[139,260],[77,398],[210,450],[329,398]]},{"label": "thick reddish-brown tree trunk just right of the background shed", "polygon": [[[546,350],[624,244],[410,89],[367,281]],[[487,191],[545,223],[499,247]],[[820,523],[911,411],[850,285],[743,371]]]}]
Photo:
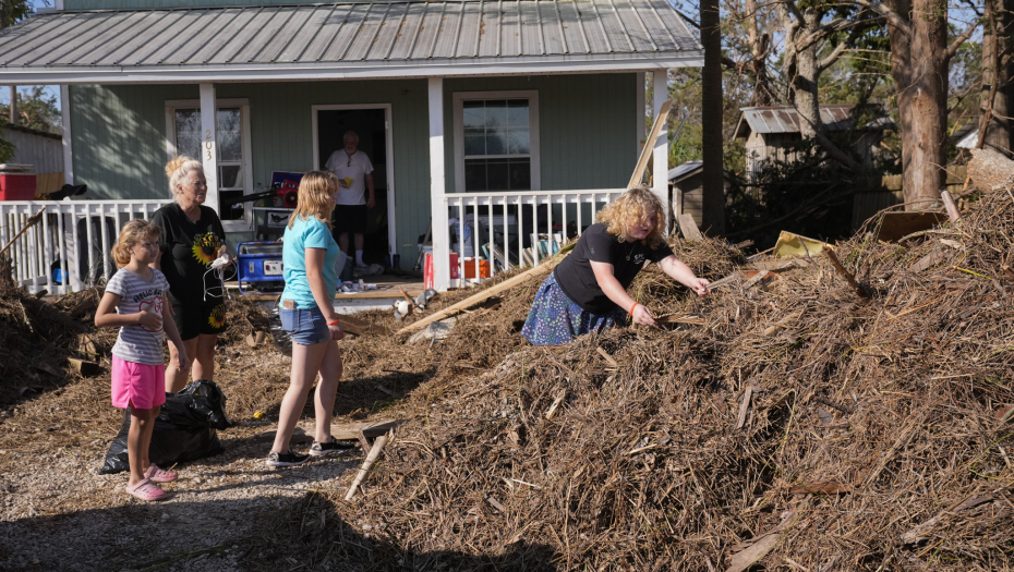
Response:
[{"label": "thick reddish-brown tree trunk just right of the background shed", "polygon": [[943,188],[947,120],[947,5],[944,0],[890,0],[909,33],[893,23],[892,75],[902,133],[902,186],[908,210],[927,208]]}]

